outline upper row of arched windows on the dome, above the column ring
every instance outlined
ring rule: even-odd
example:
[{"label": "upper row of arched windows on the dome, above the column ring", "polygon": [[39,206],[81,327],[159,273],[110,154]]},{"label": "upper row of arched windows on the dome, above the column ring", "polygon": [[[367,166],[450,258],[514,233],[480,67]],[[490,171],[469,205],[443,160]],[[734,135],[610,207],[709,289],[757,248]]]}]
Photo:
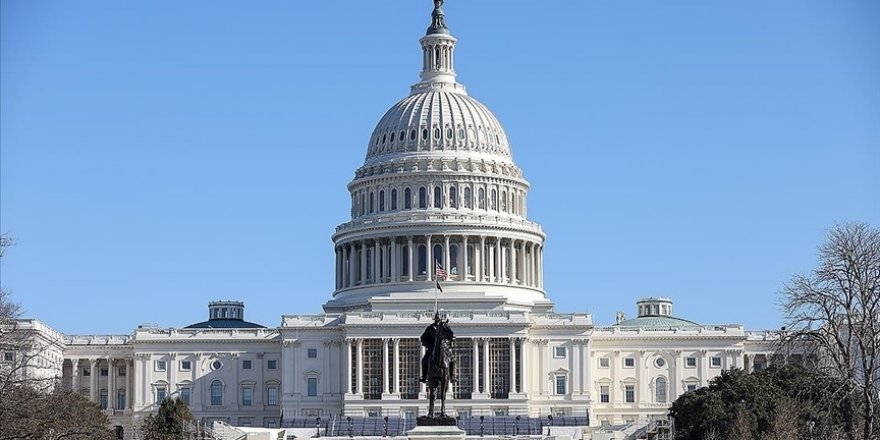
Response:
[{"label": "upper row of arched windows on the dome, above the column ring", "polygon": [[525,215],[525,192],[509,187],[484,187],[473,190],[465,186],[431,185],[364,189],[351,196],[351,215],[375,214],[410,209],[481,209]]}]

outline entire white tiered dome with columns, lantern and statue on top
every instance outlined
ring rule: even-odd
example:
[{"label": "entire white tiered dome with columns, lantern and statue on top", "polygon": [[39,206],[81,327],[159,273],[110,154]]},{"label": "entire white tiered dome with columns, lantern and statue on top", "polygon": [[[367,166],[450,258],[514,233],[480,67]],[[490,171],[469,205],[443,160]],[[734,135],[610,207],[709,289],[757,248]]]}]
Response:
[{"label": "entire white tiered dome with columns, lantern and statue on top", "polygon": [[456,80],[442,4],[419,39],[420,81],[379,120],[348,184],[327,312],[436,308],[440,283],[451,310],[552,309],[529,183],[498,118]]}]

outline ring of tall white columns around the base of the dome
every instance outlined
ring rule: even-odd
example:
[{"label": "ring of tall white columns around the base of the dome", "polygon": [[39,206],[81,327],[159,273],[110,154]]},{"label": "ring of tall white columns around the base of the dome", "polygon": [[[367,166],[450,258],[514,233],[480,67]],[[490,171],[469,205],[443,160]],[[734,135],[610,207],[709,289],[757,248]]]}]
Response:
[{"label": "ring of tall white columns around the base of the dome", "polygon": [[[418,235],[352,240],[336,246],[336,290],[434,281],[543,289],[543,243],[487,235]],[[414,270],[413,270],[414,269]]]}]

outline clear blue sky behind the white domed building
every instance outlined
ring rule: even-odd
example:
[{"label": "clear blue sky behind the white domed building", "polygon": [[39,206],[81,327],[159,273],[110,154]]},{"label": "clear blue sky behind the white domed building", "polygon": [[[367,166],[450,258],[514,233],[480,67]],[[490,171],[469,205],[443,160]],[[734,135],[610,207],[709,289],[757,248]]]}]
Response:
[{"label": "clear blue sky behind the white domed building", "polygon": [[[68,333],[278,325],[330,235],[429,0],[0,2],[2,283]],[[670,296],[776,328],[837,222],[880,225],[880,2],[448,0],[548,233],[546,289],[600,324]]]}]

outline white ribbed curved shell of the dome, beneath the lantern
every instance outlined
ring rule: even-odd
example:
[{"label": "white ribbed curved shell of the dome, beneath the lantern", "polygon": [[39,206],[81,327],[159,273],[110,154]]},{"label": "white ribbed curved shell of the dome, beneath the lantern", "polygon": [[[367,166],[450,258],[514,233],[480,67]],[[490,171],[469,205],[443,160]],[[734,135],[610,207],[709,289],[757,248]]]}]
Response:
[{"label": "white ribbed curved shell of the dome, beneath the lantern", "polygon": [[394,104],[373,130],[365,163],[450,152],[513,163],[507,135],[495,115],[456,90],[413,93]]}]

